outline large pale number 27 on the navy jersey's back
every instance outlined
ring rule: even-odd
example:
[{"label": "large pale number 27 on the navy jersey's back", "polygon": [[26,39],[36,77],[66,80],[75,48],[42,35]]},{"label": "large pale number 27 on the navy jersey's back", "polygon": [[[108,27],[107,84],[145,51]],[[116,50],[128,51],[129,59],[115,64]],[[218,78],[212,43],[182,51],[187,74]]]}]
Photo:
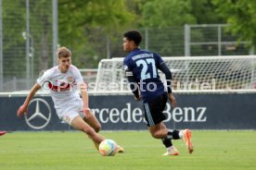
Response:
[{"label": "large pale number 27 on the navy jersey's back", "polygon": [[157,68],[156,63],[153,58],[147,58],[146,60],[140,59],[136,61],[136,66],[142,66],[140,78],[141,79],[151,79],[157,78]]}]

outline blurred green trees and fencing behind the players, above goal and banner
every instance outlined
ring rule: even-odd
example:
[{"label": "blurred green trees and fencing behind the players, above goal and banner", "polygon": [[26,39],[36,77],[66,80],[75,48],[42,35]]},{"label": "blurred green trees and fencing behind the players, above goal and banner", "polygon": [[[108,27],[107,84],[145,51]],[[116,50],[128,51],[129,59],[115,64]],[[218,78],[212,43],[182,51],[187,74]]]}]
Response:
[{"label": "blurred green trees and fencing behind the players, above goal and banner", "polygon": [[124,57],[122,33],[162,56],[254,55],[253,0],[0,0],[0,91],[29,90],[66,46],[87,81]]}]

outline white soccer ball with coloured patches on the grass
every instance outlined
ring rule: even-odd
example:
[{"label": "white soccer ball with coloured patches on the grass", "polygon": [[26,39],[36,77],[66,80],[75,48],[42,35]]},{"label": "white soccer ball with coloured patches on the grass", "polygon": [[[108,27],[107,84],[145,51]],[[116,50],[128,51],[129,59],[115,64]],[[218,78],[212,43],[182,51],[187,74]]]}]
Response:
[{"label": "white soccer ball with coloured patches on the grass", "polygon": [[103,140],[98,150],[103,156],[114,156],[117,152],[117,143],[114,140]]}]

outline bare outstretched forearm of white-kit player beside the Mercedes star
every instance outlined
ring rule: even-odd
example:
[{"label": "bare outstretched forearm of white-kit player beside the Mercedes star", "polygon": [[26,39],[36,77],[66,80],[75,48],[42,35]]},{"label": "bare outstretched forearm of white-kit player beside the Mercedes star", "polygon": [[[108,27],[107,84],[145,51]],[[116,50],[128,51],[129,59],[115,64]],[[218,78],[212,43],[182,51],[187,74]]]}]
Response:
[{"label": "bare outstretched forearm of white-kit player beside the Mercedes star", "polygon": [[37,82],[33,85],[31,91],[27,95],[27,98],[26,98],[25,102],[22,105],[20,105],[20,107],[17,111],[18,116],[20,116],[23,113],[27,113],[29,103],[31,102],[31,100],[32,100],[34,94],[36,93],[36,91],[38,91],[40,88],[41,88],[41,86]]}]

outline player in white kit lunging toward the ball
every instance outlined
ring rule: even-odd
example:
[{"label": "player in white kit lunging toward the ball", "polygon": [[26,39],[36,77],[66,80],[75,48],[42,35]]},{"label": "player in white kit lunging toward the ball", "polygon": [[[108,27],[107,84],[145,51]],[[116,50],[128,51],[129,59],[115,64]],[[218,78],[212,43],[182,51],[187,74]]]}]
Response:
[{"label": "player in white kit lunging toward the ball", "polygon": [[[44,75],[37,79],[25,102],[19,107],[17,115],[27,112],[36,91],[41,88],[47,89],[50,91],[58,117],[72,128],[86,133],[98,149],[99,143],[105,138],[97,133],[101,125],[90,111],[83,77],[78,68],[71,65],[71,52],[68,48],[60,47],[57,55],[58,66],[46,70]],[[77,89],[81,91],[82,99]],[[118,152],[123,152],[122,147],[119,146]]]}]

